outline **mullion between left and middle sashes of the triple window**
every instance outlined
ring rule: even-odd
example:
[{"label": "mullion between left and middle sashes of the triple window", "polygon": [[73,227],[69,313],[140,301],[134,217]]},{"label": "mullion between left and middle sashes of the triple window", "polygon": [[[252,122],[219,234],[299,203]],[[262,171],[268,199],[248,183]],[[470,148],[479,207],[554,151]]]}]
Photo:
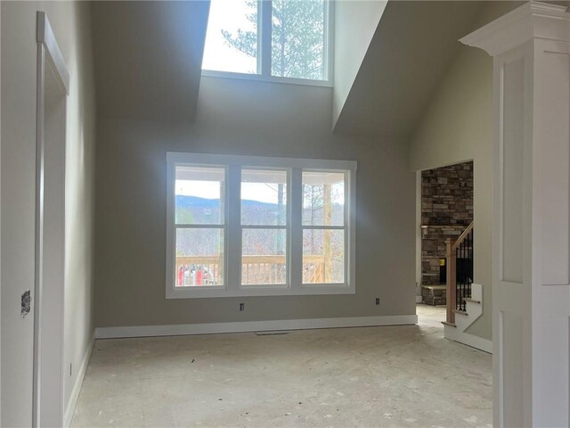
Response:
[{"label": "mullion between left and middle sashes of the triple window", "polygon": [[228,169],[228,217],[227,245],[227,288],[240,290],[241,284],[241,202],[240,202],[241,169],[230,165]]}]

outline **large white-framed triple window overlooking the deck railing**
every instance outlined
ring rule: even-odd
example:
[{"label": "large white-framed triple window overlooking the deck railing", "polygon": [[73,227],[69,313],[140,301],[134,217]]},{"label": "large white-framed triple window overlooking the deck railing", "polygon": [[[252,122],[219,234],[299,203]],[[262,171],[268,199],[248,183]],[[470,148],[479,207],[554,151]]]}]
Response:
[{"label": "large white-framed triple window overlooking the deck railing", "polygon": [[354,161],[167,154],[167,298],[354,292]]}]

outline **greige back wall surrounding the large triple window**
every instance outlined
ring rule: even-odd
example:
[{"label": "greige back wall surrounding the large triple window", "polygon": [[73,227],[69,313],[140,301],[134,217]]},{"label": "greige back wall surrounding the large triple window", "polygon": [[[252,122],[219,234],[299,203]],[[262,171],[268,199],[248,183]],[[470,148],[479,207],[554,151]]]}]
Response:
[{"label": "greige back wall surrounding the large triple window", "polygon": [[[331,105],[326,87],[203,77],[194,125],[101,119],[96,325],[415,314],[415,176],[408,147],[333,135]],[[356,294],[166,300],[167,151],[358,161]]]}]

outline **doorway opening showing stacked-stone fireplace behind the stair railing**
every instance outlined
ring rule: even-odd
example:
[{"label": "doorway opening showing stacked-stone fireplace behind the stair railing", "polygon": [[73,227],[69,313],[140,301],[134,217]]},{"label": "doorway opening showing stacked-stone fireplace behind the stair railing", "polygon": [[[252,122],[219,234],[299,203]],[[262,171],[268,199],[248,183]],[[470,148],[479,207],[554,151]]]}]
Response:
[{"label": "doorway opening showing stacked-stone fireplace behind the stair railing", "polygon": [[[456,308],[455,301],[448,301],[448,251],[462,234],[469,233],[473,222],[473,173],[473,161],[418,172],[417,312],[423,323],[442,329],[441,323],[448,318],[448,303],[452,304],[452,310]],[[471,242],[464,245],[466,251],[453,260],[451,275],[461,278],[457,284],[472,282],[472,233],[471,229],[471,235],[467,236]],[[468,290],[461,292],[465,294]]]}]

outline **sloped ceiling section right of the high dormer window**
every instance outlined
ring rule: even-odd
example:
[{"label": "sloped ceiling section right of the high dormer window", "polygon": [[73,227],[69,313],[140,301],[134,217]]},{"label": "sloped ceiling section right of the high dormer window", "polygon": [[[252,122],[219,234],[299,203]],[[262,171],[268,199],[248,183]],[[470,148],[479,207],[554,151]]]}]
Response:
[{"label": "sloped ceiling section right of the high dormer window", "polygon": [[410,135],[485,3],[389,1],[335,131]]}]

